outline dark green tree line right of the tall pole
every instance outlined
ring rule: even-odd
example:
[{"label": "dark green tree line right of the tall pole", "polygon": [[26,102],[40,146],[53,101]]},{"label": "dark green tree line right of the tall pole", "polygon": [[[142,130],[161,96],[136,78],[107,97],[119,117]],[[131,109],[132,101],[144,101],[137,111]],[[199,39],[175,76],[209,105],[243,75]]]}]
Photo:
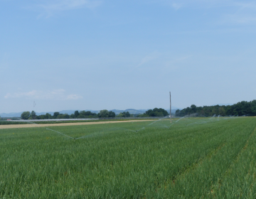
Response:
[{"label": "dark green tree line right of the tall pole", "polygon": [[214,114],[220,116],[256,116],[256,100],[252,100],[250,102],[242,101],[238,102],[233,105],[228,106],[203,106],[203,107],[196,107],[195,104],[192,104],[191,107],[186,107],[185,109],[177,109],[176,116],[177,117],[184,117],[186,115],[194,116],[206,116],[211,117]]}]

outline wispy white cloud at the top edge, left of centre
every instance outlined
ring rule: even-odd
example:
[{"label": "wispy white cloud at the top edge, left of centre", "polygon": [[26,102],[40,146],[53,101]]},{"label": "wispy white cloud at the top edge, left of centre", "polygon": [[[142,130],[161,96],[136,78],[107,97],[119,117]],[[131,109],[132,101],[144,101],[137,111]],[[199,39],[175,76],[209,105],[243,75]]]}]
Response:
[{"label": "wispy white cloud at the top edge, left of centre", "polygon": [[100,0],[52,0],[45,1],[43,4],[28,6],[27,9],[38,11],[40,13],[38,17],[48,18],[56,12],[80,8],[93,9],[101,4],[102,1]]}]

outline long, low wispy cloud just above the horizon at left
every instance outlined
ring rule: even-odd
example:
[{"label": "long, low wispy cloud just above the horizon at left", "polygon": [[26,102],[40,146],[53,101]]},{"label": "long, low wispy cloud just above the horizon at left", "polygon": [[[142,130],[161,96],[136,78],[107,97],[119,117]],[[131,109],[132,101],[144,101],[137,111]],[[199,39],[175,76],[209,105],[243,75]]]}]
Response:
[{"label": "long, low wispy cloud just above the horizon at left", "polygon": [[26,99],[81,99],[82,96],[80,95],[67,95],[65,90],[51,90],[51,91],[41,91],[41,90],[32,90],[28,92],[14,92],[14,93],[7,93],[4,98],[26,98]]}]

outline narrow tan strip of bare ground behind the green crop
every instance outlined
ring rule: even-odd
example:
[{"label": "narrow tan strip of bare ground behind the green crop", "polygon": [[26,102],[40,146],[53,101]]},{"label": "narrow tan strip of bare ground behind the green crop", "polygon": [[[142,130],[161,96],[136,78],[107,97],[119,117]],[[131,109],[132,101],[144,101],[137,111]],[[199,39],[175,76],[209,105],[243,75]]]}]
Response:
[{"label": "narrow tan strip of bare ground behind the green crop", "polygon": [[0,125],[0,129],[19,129],[19,128],[35,128],[35,127],[62,127],[62,126],[78,126],[92,124],[110,124],[124,122],[147,122],[151,120],[127,120],[127,121],[107,121],[107,122],[77,122],[77,123],[60,123],[60,124],[10,124]]}]

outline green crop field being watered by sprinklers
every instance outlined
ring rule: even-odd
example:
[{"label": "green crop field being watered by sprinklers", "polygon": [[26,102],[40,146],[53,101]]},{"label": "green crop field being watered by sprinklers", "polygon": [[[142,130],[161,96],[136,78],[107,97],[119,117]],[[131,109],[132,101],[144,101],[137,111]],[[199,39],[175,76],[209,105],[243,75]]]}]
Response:
[{"label": "green crop field being watered by sprinklers", "polygon": [[0,129],[0,198],[256,198],[255,129],[256,117]]}]

